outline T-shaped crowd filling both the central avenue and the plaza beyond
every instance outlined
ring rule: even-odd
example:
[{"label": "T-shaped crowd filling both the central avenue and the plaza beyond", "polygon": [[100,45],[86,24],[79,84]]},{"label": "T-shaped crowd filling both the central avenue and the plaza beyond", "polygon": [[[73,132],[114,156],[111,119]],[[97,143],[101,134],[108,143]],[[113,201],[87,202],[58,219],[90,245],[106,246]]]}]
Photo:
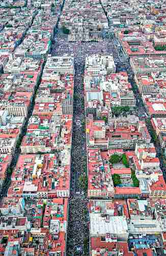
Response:
[{"label": "T-shaped crowd filling both the central avenue and the plaza beyond", "polygon": [[79,177],[82,174],[87,175],[85,173],[87,152],[84,122],[84,66],[86,56],[113,53],[109,46],[112,42],[110,40],[69,42],[60,30],[56,37],[52,56],[73,54],[75,70],[67,255],[89,255],[88,198],[85,190],[81,189],[79,182]]}]

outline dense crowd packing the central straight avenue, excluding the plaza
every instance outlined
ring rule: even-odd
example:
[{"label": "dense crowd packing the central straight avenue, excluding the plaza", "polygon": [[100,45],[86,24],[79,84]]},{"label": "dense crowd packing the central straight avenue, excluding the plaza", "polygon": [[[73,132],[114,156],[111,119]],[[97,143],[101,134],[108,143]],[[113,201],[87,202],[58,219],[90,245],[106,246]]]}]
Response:
[{"label": "dense crowd packing the central straight avenue, excluding the plaza", "polygon": [[[76,58],[74,63],[74,98],[73,102],[73,136],[71,152],[71,197],[69,199],[69,218],[68,218],[68,240],[67,251],[72,254],[75,251],[81,253],[84,249],[85,237],[89,237],[88,223],[84,214],[84,209],[88,209],[88,200],[82,197],[79,177],[84,173],[86,163],[86,134],[81,127],[82,120],[85,119],[84,113],[84,61],[85,59]],[[78,122],[79,120],[79,122]],[[80,249],[80,251],[79,251]]]}]

